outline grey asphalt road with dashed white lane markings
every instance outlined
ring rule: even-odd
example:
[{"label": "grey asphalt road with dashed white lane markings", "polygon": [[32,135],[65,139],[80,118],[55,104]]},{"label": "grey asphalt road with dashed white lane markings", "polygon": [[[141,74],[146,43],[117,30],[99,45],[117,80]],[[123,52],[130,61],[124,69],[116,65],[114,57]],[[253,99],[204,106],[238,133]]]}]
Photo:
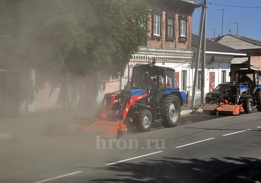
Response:
[{"label": "grey asphalt road with dashed white lane markings", "polygon": [[188,115],[175,128],[155,123],[146,133],[128,126],[105,143],[75,133],[3,143],[0,182],[242,182],[259,173],[261,112]]}]

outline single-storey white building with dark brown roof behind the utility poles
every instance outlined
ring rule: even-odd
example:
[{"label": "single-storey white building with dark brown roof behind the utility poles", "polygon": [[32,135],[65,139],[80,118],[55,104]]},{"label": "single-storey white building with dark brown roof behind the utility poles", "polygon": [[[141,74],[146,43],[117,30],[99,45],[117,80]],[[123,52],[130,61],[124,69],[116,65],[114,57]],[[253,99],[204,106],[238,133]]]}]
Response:
[{"label": "single-storey white building with dark brown roof behind the utility poles", "polygon": [[[192,58],[193,67],[191,67],[191,74],[189,74],[189,80],[191,85],[189,85],[189,90],[192,91],[193,87],[193,77],[195,74],[195,64],[197,57],[197,41],[198,36],[192,34],[192,50],[194,55]],[[205,64],[205,94],[211,92],[220,83],[225,83],[230,81],[229,72],[231,61],[234,57],[246,56],[247,54],[239,50],[235,50],[231,47],[216,43],[206,39],[206,64]],[[201,56],[200,56],[201,61]],[[192,65],[191,64],[191,65]],[[197,89],[196,98],[200,98],[200,77],[201,77],[201,62],[199,63],[198,79],[197,79]],[[192,94],[192,93],[191,93]]]}]

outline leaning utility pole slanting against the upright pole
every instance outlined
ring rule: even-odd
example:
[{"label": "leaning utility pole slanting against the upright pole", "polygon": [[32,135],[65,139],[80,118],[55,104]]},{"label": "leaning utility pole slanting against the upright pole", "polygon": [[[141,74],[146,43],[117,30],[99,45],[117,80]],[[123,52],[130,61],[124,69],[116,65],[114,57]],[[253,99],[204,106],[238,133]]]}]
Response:
[{"label": "leaning utility pole slanting against the upright pole", "polygon": [[[191,109],[193,109],[195,107],[197,72],[198,72],[198,66],[199,66],[199,61],[200,61],[200,51],[201,51],[202,34],[203,34],[203,27],[204,27],[203,23],[205,22],[205,20],[204,20],[205,19],[205,11],[206,11],[206,0],[204,0],[203,6],[202,6],[202,11],[201,11],[200,32],[199,32],[199,36],[198,36],[198,38],[200,40],[197,42],[197,60],[196,60],[196,64],[195,64],[195,73],[194,73],[194,80],[193,80]],[[205,32],[204,32],[204,34],[205,34]]]}]

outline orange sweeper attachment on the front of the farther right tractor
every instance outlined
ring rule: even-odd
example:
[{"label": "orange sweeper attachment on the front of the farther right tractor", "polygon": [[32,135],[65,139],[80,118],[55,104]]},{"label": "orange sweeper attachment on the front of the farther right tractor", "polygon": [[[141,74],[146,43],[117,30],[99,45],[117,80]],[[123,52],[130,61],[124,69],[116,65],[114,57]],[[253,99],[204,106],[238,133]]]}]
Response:
[{"label": "orange sweeper attachment on the front of the farther right tractor", "polygon": [[204,113],[209,112],[210,114],[215,113],[216,115],[218,115],[218,114],[221,114],[221,115],[238,115],[238,114],[244,112],[242,104],[236,105],[236,104],[228,103],[227,100],[223,100],[222,103],[220,103],[219,105],[205,104],[202,109],[203,109]]}]

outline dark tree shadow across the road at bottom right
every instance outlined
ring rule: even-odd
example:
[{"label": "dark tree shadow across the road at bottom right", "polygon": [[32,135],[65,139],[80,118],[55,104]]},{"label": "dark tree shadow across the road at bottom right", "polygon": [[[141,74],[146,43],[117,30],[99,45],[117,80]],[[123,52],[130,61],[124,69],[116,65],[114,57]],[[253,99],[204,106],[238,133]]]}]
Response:
[{"label": "dark tree shadow across the road at bottom right", "polygon": [[94,170],[113,171],[115,174],[90,182],[242,182],[261,173],[261,163],[258,159],[245,157],[210,158],[209,161],[162,157],[162,160],[150,159],[137,164],[125,162]]}]

